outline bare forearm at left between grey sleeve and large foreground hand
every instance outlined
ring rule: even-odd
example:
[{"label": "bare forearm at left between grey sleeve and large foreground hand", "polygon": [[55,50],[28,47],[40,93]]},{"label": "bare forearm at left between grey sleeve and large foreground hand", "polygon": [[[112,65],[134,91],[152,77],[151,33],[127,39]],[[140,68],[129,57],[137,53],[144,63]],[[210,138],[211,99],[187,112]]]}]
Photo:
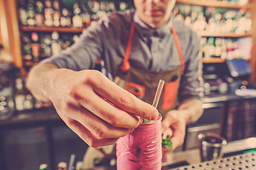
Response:
[{"label": "bare forearm at left between grey sleeve and large foreground hand", "polygon": [[49,98],[43,92],[50,86],[54,69],[58,69],[55,64],[38,64],[28,73],[26,86],[31,94],[40,101],[49,101]]}]

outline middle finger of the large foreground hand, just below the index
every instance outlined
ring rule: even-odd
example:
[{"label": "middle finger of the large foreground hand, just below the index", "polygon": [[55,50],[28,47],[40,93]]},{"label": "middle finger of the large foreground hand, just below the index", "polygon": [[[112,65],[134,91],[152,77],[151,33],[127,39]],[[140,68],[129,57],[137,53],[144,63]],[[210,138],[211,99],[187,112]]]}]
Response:
[{"label": "middle finger of the large foreground hand, just below the index", "polygon": [[[134,129],[140,123],[140,118],[136,115],[129,114],[121,109],[113,106],[105,101],[103,98],[94,93],[94,91],[87,91],[84,96],[82,91],[88,89],[87,85],[78,86],[73,91],[73,97],[75,101],[78,101],[80,105],[86,108],[91,113],[97,115],[97,117],[105,120],[107,123],[114,127]],[[90,96],[87,97],[87,96]],[[77,105],[77,103],[75,103]]]}]

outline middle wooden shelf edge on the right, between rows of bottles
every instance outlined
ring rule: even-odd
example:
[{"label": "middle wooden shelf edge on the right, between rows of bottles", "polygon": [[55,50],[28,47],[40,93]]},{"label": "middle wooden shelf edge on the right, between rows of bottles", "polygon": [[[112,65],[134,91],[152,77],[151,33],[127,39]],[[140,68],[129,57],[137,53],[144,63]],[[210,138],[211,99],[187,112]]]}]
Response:
[{"label": "middle wooden shelf edge on the right, between rows of bottles", "polygon": [[242,38],[242,37],[251,37],[252,33],[236,34],[236,33],[213,33],[208,31],[198,31],[199,35],[203,37],[226,37],[226,38]]}]

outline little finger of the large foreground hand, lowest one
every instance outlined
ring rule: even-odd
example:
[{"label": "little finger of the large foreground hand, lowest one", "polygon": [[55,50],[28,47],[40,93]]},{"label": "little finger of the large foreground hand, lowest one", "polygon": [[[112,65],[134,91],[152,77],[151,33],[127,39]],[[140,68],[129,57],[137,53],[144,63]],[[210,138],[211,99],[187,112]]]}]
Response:
[{"label": "little finger of the large foreground hand, lowest one", "polygon": [[96,137],[76,120],[68,120],[67,125],[90,147],[102,147],[107,145],[113,145],[118,140],[118,138]]}]

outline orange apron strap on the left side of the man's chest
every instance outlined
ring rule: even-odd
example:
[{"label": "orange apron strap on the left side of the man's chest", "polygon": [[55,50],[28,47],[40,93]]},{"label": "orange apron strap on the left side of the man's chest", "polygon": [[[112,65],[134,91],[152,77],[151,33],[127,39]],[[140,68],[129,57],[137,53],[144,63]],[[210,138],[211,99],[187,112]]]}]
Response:
[{"label": "orange apron strap on the left side of the man's chest", "polygon": [[134,21],[132,21],[132,26],[129,31],[129,40],[128,40],[127,47],[126,47],[125,53],[124,53],[124,60],[122,61],[122,65],[120,67],[122,72],[127,72],[127,70],[130,68],[129,56],[130,56],[131,50],[132,50],[132,38],[134,35],[134,27],[135,27],[135,23],[134,23]]}]

